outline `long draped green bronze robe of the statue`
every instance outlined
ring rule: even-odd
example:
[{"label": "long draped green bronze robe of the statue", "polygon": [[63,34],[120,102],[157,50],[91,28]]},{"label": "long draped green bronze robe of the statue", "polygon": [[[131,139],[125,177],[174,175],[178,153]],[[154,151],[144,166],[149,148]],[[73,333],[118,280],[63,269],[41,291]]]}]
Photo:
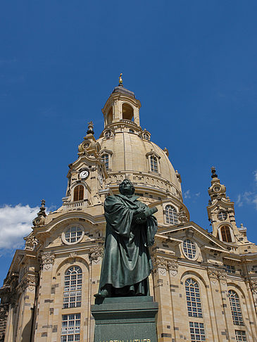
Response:
[{"label": "long draped green bronze robe of the statue", "polygon": [[151,215],[143,224],[133,221],[134,210],[148,208],[137,198],[121,194],[106,198],[106,241],[99,291],[106,284],[115,289],[140,284],[147,281],[152,270],[148,246],[153,245],[157,220]]}]

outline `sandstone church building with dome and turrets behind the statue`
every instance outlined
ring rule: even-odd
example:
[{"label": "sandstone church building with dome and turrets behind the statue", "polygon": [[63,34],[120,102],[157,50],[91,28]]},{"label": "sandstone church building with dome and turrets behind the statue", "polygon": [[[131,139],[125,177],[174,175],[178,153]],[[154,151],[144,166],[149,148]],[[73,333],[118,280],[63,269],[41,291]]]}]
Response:
[{"label": "sandstone church building with dome and turrets behind the statue", "polygon": [[99,139],[89,122],[69,165],[63,205],[46,215],[43,200],[25,249],[15,252],[0,289],[0,341],[94,341],[90,307],[104,251],[104,200],[125,178],[140,201],[158,208],[149,277],[159,303],[158,341],[256,341],[257,247],[237,227],[214,168],[213,232],[190,221],[180,174],[167,148],[140,127],[140,106],[120,84],[102,110]]}]

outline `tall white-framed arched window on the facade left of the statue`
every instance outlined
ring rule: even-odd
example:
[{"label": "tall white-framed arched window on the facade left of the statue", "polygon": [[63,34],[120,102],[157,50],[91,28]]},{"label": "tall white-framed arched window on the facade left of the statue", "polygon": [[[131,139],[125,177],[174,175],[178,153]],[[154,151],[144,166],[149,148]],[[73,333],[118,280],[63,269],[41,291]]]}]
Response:
[{"label": "tall white-framed arched window on the facade left of the statue", "polygon": [[65,272],[63,308],[79,308],[81,306],[82,270],[72,266]]}]

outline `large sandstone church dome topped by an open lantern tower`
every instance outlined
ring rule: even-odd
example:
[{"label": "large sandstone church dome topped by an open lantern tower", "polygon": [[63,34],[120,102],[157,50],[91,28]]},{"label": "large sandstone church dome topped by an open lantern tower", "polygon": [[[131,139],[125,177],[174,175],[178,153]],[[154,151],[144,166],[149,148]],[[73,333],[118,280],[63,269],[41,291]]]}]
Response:
[{"label": "large sandstone church dome topped by an open lantern tower", "polygon": [[168,158],[168,150],[151,141],[151,134],[139,124],[141,103],[134,93],[115,87],[103,108],[105,127],[97,140],[106,163],[109,186],[117,188],[129,178],[137,191],[170,194],[182,202],[180,175]]}]

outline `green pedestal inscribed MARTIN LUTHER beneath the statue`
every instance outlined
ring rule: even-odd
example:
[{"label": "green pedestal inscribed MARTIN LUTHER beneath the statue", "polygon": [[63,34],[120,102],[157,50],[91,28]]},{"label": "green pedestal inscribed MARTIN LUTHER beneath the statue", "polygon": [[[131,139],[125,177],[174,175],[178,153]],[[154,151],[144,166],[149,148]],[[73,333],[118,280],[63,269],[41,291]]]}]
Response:
[{"label": "green pedestal inscribed MARTIN LUTHER beneath the statue", "polygon": [[157,342],[153,297],[96,298],[94,342]]}]

